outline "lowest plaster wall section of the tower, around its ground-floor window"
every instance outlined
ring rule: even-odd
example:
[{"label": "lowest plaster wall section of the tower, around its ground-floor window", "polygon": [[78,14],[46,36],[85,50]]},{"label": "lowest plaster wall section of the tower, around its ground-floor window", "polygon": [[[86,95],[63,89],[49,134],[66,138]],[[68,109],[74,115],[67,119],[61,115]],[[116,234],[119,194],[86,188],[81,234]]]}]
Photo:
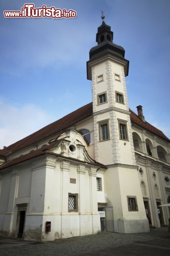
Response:
[{"label": "lowest plaster wall section of the tower, around its ground-floor window", "polygon": [[[108,168],[105,172],[105,188],[107,205],[113,206],[114,231],[148,232],[149,224],[145,215],[137,170],[124,167]],[[127,196],[136,197],[138,211],[128,210]]]}]

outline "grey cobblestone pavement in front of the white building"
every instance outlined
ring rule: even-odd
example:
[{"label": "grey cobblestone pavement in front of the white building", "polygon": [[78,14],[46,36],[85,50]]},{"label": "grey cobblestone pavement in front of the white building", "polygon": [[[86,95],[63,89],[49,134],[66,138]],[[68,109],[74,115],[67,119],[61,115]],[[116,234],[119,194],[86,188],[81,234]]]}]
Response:
[{"label": "grey cobblestone pavement in front of the white building", "polygon": [[36,255],[170,255],[170,233],[167,227],[149,233],[102,232],[91,236],[60,239],[52,242],[31,242],[0,236],[1,256]]}]

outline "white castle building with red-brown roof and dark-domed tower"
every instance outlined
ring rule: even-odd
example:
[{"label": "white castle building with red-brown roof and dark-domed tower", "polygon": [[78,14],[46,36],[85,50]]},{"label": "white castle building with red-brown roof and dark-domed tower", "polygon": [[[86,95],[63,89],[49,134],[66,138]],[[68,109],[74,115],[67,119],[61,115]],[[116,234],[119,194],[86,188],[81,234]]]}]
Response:
[{"label": "white castle building with red-brown roof and dark-domed tower", "polygon": [[104,20],[87,61],[92,103],[0,150],[0,232],[50,241],[167,225],[170,140],[129,109],[129,61]]}]

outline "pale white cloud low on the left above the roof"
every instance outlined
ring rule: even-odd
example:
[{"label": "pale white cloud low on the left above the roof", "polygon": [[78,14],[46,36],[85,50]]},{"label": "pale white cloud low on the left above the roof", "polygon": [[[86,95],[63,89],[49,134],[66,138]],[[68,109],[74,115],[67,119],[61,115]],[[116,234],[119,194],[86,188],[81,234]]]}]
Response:
[{"label": "pale white cloud low on the left above the roof", "polygon": [[8,146],[50,122],[50,116],[35,104],[14,106],[0,98],[0,148]]}]

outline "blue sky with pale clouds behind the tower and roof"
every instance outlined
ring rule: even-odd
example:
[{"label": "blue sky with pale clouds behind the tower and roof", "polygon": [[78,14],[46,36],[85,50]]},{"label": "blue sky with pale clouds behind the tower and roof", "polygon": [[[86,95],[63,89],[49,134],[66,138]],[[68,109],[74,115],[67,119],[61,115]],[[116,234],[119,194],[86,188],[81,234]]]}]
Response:
[{"label": "blue sky with pale clouds behind the tower and roof", "polygon": [[[22,0],[0,0],[0,149],[92,101],[86,61],[105,23],[130,61],[129,107],[170,138],[170,1],[34,0],[76,18],[5,18]],[[31,2],[32,3],[32,2]]]}]

